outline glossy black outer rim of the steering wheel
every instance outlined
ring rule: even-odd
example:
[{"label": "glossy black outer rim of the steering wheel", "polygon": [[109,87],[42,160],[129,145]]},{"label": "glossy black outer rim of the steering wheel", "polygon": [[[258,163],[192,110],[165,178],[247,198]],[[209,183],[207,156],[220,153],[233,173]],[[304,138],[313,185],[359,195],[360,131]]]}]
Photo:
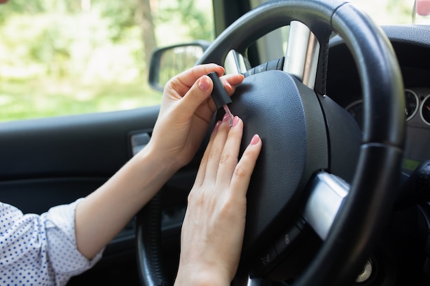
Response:
[{"label": "glossy black outer rim of the steering wheel", "polygon": [[[326,241],[304,274],[295,281],[295,285],[337,285],[351,281],[357,275],[357,268],[369,256],[389,215],[394,197],[392,190],[400,174],[405,124],[402,116],[403,83],[389,40],[365,14],[348,2],[269,1],[228,27],[197,64],[223,64],[231,49],[245,53],[260,36],[291,21],[300,21],[308,26],[321,45],[315,84],[317,93],[324,95],[326,92],[331,32],[339,34],[350,49],[363,88],[363,137],[350,194]],[[138,217],[139,221],[148,219]],[[138,228],[142,225],[137,224]],[[146,244],[142,247],[142,241],[137,239],[141,278],[146,285],[163,285],[166,283],[163,274],[156,278],[150,265],[142,262],[154,260],[148,259],[154,254],[153,249],[146,251],[151,246]],[[159,254],[155,254],[155,259],[159,259]]]}]

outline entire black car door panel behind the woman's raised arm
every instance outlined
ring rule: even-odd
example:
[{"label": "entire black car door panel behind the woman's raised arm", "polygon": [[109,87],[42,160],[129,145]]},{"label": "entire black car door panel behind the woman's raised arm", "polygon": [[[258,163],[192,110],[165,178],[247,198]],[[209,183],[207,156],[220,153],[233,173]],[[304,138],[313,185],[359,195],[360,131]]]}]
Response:
[{"label": "entire black car door panel behind the woman's raised arm", "polygon": [[[40,214],[88,195],[131,158],[131,135],[150,134],[158,111],[154,106],[0,123],[0,201]],[[132,221],[106,247],[102,261],[69,285],[100,279],[114,285],[124,279],[119,270],[128,274],[122,281],[137,283],[134,236]]]}]

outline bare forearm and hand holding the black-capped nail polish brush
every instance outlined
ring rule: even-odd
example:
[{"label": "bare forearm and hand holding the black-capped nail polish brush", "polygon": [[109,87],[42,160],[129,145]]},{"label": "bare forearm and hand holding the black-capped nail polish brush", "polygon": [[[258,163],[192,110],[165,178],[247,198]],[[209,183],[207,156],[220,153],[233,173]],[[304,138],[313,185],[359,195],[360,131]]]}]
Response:
[{"label": "bare forearm and hand holding the black-capped nail polish brush", "polygon": [[[161,189],[174,172],[189,163],[216,111],[207,73],[223,67],[205,64],[168,82],[150,143],[97,191],[76,207],[76,244],[91,259]],[[243,75],[223,77],[229,95]],[[112,212],[115,209],[115,212]]]}]

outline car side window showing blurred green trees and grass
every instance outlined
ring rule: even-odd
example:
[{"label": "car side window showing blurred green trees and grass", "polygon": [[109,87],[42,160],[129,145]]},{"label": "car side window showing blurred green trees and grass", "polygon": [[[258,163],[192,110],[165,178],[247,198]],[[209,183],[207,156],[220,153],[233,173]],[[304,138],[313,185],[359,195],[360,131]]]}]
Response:
[{"label": "car side window showing blurred green trees and grass", "polygon": [[214,39],[208,0],[0,5],[0,122],[159,104],[156,47]]}]

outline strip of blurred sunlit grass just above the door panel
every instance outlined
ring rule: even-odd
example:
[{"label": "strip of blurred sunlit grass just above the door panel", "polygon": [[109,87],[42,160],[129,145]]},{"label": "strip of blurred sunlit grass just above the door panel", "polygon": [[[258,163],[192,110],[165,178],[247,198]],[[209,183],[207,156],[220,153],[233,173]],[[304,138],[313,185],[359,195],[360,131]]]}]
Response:
[{"label": "strip of blurred sunlit grass just above the door panel", "polygon": [[124,110],[160,101],[161,94],[142,82],[12,80],[0,84],[0,121]]}]

